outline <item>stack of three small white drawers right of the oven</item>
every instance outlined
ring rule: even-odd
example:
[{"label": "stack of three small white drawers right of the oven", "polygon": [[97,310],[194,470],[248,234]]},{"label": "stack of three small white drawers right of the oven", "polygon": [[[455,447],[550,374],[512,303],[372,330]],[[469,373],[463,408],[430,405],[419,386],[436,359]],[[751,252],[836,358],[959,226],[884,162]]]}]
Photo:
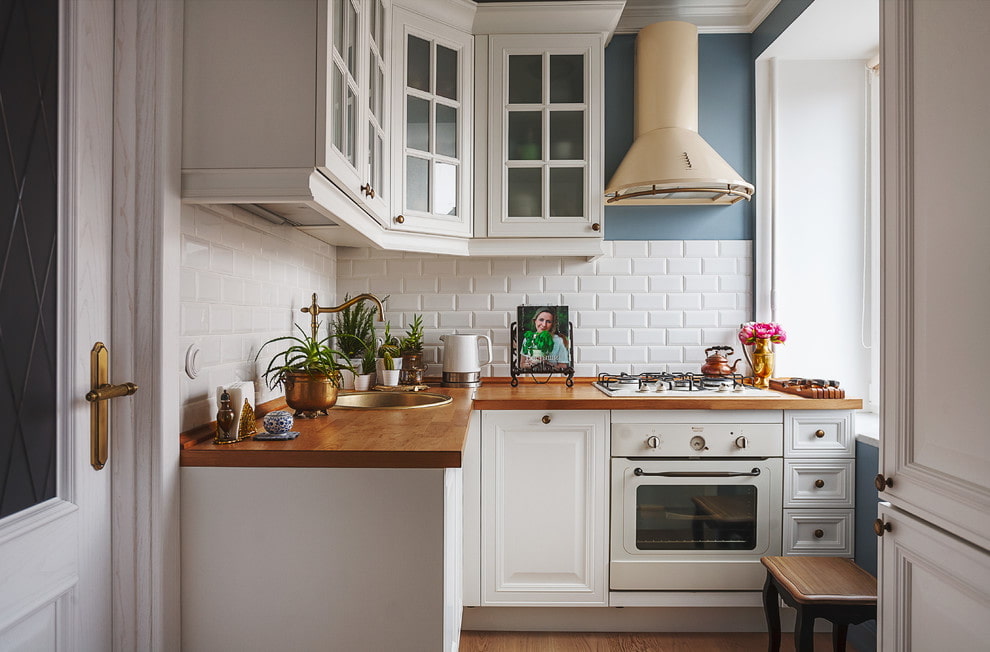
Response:
[{"label": "stack of three small white drawers right of the oven", "polygon": [[785,555],[852,557],[855,439],[852,412],[784,412]]}]

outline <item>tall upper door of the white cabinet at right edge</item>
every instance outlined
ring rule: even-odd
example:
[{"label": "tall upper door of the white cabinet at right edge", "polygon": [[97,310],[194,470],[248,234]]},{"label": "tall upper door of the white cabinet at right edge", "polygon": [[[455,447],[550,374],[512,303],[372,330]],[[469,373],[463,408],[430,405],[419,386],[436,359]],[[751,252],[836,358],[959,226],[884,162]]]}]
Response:
[{"label": "tall upper door of the white cabinet at right edge", "polygon": [[[990,549],[990,366],[981,188],[990,3],[881,3],[883,398],[880,495]],[[974,138],[974,134],[981,137]]]}]

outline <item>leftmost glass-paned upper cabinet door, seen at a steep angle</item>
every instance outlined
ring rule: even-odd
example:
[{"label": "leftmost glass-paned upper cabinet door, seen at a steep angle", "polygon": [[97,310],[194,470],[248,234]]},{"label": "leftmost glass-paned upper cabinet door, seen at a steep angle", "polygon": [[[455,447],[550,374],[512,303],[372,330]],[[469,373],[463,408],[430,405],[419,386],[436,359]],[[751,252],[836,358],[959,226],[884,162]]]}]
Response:
[{"label": "leftmost glass-paned upper cabinet door, seen at a steep angle", "polygon": [[328,0],[326,11],[327,125],[320,167],[384,223],[390,0]]}]

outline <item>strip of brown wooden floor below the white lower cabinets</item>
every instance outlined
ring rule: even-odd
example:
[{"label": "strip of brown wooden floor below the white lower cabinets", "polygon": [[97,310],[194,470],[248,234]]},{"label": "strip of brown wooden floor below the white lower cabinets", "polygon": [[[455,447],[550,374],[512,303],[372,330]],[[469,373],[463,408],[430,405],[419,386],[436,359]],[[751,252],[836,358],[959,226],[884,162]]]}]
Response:
[{"label": "strip of brown wooden floor below the white lower cabinets", "polygon": [[[791,634],[781,650],[793,650]],[[764,633],[668,634],[590,632],[461,632],[460,652],[764,652]],[[815,634],[816,652],[832,649],[831,634]],[[851,645],[847,652],[856,652]]]}]

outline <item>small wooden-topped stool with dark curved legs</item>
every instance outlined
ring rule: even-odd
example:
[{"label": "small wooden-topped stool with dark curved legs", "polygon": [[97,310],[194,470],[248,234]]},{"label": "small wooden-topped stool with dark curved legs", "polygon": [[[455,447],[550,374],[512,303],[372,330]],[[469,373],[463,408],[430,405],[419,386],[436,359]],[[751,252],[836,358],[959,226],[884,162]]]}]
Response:
[{"label": "small wooden-topped stool with dark curved legs", "polygon": [[770,632],[770,652],[780,650],[777,596],[797,609],[794,649],[814,652],[815,619],[832,623],[832,649],[846,649],[846,630],[877,617],[877,580],[842,557],[763,557],[767,581],[763,609]]}]

